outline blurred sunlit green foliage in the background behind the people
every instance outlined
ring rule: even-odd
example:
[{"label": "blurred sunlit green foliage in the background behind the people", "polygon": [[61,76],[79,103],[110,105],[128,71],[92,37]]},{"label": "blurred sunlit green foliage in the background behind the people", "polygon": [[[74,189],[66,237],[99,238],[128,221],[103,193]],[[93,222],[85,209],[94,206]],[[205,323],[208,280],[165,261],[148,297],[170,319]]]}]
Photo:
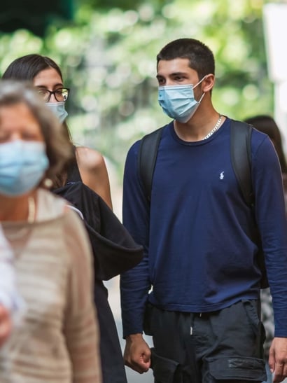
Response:
[{"label": "blurred sunlit green foliage in the background behind the people", "polygon": [[0,34],[0,71],[28,53],[52,57],[71,88],[74,141],[102,151],[121,178],[130,145],[169,121],[158,106],[155,56],[173,39],[200,39],[214,51],[218,111],[238,119],[273,113],[262,27],[268,2],[75,0],[73,22],[50,23],[45,39],[24,29]]}]

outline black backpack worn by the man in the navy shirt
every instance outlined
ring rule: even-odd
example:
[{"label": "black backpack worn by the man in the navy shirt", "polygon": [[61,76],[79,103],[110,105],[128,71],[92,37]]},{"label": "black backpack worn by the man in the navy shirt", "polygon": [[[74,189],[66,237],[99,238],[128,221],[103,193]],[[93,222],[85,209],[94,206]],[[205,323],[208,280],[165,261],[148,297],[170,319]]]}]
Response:
[{"label": "black backpack worn by the man in the navy shirt", "polygon": [[[141,182],[144,186],[144,191],[148,202],[151,202],[151,187],[153,183],[153,172],[155,169],[155,162],[158,156],[158,146],[162,137],[162,130],[164,127],[146,134],[141,139],[138,155],[138,170]],[[251,134],[253,127],[240,121],[231,121],[230,132],[230,151],[232,167],[239,183],[244,201],[253,211],[254,209],[254,194],[251,181]],[[255,214],[253,213],[255,219]],[[262,251],[260,233],[257,230],[256,244],[258,244],[258,265],[262,272],[260,281],[261,288],[269,286],[266,269],[264,253]]]}]

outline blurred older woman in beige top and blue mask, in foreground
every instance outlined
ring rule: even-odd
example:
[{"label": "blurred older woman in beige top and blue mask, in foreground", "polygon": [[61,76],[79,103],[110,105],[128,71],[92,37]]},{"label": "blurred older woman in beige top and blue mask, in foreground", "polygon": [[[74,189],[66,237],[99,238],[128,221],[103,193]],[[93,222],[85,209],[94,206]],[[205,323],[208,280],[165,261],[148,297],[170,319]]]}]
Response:
[{"label": "blurred older woman in beige top and blue mask, in foreground", "polygon": [[102,382],[90,245],[78,215],[44,188],[70,155],[35,91],[1,81],[0,221],[26,306],[0,350],[2,383]]}]

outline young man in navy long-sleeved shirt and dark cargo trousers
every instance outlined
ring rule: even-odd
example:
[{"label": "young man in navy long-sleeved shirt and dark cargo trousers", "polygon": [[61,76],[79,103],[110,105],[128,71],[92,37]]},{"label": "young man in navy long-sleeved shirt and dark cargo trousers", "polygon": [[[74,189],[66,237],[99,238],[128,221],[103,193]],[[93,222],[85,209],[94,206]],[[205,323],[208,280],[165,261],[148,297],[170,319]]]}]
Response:
[{"label": "young man in navy long-sleeved shirt and dark cargo trousers", "polygon": [[[153,368],[156,383],[265,380],[260,268],[253,211],[230,158],[230,124],[211,102],[214,55],[179,39],[157,57],[159,102],[173,120],[158,148],[151,201],[137,157],[127,154],[123,222],[144,245],[144,260],[121,276],[125,363]],[[273,295],[274,382],[287,376],[287,225],[279,160],[253,130],[255,220]],[[153,335],[150,349],[143,330]]]}]

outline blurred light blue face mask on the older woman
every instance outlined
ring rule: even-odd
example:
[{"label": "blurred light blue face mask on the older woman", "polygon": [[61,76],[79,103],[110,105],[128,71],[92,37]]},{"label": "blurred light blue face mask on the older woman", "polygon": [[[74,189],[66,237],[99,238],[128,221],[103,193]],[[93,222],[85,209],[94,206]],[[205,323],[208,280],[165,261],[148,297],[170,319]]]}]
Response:
[{"label": "blurred light blue face mask on the older woman", "polygon": [[15,140],[0,144],[0,194],[28,193],[43,179],[49,160],[45,144]]}]

